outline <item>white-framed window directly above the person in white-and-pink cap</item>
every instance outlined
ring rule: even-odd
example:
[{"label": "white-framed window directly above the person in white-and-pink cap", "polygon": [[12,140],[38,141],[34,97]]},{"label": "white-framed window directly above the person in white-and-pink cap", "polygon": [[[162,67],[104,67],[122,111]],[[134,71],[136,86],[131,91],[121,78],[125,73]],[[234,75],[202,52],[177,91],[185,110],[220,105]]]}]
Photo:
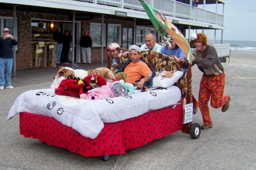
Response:
[{"label": "white-framed window directly above the person in white-and-pink cap", "polygon": [[108,24],[108,45],[111,43],[121,44],[121,25]]}]

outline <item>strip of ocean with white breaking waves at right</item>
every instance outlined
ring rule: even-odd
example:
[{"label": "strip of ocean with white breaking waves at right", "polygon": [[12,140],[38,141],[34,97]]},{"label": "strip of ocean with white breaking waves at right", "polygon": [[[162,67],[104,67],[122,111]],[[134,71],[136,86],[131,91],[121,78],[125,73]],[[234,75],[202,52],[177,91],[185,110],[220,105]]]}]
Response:
[{"label": "strip of ocean with white breaking waves at right", "polygon": [[[215,43],[221,43],[220,40],[216,40]],[[223,40],[222,43],[229,43],[231,51],[241,52],[256,52],[256,41],[232,41]],[[213,44],[213,40],[208,40],[208,44]]]}]

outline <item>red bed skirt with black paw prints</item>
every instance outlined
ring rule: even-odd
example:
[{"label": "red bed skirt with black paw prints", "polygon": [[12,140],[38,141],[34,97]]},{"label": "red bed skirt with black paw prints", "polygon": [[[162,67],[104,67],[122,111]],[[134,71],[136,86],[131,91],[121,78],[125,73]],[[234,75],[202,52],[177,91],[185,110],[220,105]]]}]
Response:
[{"label": "red bed skirt with black paw prints", "polygon": [[83,156],[124,154],[182,129],[183,107],[167,107],[127,120],[104,123],[95,138],[86,138],[73,128],[42,115],[20,113],[20,134]]}]

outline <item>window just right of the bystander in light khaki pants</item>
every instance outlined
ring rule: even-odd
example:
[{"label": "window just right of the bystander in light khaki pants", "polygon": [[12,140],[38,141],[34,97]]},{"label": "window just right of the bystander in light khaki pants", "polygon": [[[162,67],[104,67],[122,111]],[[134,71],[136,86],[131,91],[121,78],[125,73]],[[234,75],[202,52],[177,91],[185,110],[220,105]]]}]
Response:
[{"label": "window just right of the bystander in light khaki pants", "polygon": [[90,23],[90,37],[93,47],[101,46],[101,39],[103,39],[103,46],[106,46],[106,24],[103,24],[103,37],[101,38],[101,23]]}]

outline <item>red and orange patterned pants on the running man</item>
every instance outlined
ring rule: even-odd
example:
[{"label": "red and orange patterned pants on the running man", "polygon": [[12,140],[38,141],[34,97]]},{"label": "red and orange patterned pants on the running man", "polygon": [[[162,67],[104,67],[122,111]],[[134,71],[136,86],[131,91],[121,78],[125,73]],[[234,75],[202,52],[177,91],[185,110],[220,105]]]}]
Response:
[{"label": "red and orange patterned pants on the running man", "polygon": [[226,75],[222,73],[213,77],[207,77],[206,75],[203,75],[201,79],[198,104],[205,125],[212,123],[208,107],[208,101],[210,100],[210,97],[211,106],[213,108],[220,108],[229,100],[228,96],[223,97],[225,77]]}]

